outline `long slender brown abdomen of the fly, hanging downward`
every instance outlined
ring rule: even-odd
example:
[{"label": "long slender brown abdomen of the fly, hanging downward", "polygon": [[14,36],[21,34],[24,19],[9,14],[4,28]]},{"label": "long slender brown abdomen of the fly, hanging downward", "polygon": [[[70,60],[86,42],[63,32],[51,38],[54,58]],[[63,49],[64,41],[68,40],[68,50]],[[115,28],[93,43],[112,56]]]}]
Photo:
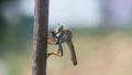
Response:
[{"label": "long slender brown abdomen of the fly, hanging downward", "polygon": [[72,40],[68,41],[67,44],[69,46],[72,62],[73,62],[74,65],[77,65],[77,57],[76,57],[76,53],[75,53],[75,47],[74,47],[73,41]]}]

